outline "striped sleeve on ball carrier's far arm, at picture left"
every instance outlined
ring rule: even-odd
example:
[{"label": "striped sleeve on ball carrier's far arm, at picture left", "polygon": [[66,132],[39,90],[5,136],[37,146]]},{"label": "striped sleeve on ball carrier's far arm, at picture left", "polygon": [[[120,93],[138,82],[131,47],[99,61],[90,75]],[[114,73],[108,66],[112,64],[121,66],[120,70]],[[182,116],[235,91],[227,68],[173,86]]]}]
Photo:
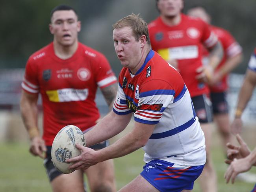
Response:
[{"label": "striped sleeve on ball carrier's far arm, at picture left", "polygon": [[113,105],[113,111],[119,115],[132,113],[132,111],[128,108],[128,105],[126,104],[125,94],[122,90],[122,85],[120,84],[120,81],[118,83],[117,96]]}]

